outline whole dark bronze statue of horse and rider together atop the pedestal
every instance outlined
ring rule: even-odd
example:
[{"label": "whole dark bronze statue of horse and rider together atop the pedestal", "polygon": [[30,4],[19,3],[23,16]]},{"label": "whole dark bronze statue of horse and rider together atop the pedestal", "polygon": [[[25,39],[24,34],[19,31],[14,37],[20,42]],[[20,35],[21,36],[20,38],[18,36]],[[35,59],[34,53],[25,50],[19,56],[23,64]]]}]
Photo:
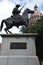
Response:
[{"label": "whole dark bronze statue of horse and rider together atop the pedestal", "polygon": [[[18,10],[19,7],[20,7],[20,5],[16,5],[16,7],[13,9],[13,12],[12,12],[13,15],[11,15],[11,17],[9,17],[7,19],[2,20],[1,26],[0,26],[0,31],[3,28],[3,23],[5,23],[5,25],[6,25],[6,28],[4,30],[7,34],[8,34],[8,32],[12,34],[12,32],[10,32],[9,29],[12,28],[13,26],[19,27],[21,25],[25,25],[27,28],[27,23],[28,23],[27,19],[25,19],[23,16],[19,15],[21,9],[24,6],[20,9],[20,11]],[[31,11],[30,9],[26,9],[25,12],[33,13],[33,11]]]}]

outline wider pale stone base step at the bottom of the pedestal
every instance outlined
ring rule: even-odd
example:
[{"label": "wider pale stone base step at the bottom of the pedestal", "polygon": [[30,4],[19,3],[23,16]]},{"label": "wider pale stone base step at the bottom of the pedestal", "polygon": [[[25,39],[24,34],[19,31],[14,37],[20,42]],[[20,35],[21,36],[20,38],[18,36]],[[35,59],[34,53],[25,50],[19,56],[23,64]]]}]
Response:
[{"label": "wider pale stone base step at the bottom of the pedestal", "polygon": [[0,56],[0,65],[39,65],[37,56]]}]

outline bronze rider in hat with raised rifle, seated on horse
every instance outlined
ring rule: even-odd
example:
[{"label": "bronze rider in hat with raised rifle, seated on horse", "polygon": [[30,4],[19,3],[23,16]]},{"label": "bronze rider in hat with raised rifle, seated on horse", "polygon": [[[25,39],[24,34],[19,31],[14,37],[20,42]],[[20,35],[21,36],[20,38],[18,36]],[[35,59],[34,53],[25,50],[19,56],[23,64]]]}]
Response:
[{"label": "bronze rider in hat with raised rifle, seated on horse", "polygon": [[[23,5],[23,7],[25,6],[25,4]],[[23,7],[20,10],[19,10],[19,7],[20,7],[20,5],[17,4],[15,6],[15,8],[13,9],[13,11],[12,11],[12,14],[13,14],[13,16],[12,16],[13,23],[14,22],[20,22],[21,20],[23,20],[23,17],[21,15],[19,15]]]}]

